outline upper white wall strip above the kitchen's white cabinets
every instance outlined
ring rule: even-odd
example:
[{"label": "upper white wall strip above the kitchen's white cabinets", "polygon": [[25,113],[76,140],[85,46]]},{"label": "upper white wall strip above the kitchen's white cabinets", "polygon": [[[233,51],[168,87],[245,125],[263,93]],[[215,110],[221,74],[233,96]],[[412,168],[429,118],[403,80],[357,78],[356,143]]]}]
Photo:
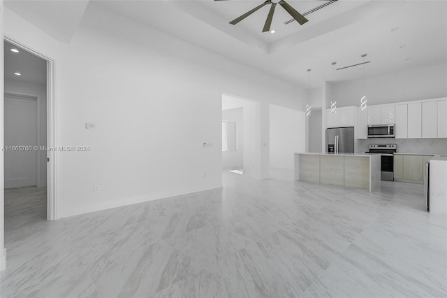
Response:
[{"label": "upper white wall strip above the kitchen's white cabinets", "polygon": [[[390,73],[365,79],[368,106],[447,97],[447,64]],[[360,106],[362,80],[330,83],[330,96],[337,106]]]}]

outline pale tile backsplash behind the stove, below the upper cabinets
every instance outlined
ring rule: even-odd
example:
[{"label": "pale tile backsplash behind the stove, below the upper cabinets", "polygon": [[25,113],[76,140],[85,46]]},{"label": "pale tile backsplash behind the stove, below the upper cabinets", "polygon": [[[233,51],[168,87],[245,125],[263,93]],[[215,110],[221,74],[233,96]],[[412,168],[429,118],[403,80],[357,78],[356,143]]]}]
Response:
[{"label": "pale tile backsplash behind the stove, below the upper cabinets", "polygon": [[396,144],[398,153],[447,154],[447,139],[374,138],[357,140],[356,152],[366,152],[369,144]]}]

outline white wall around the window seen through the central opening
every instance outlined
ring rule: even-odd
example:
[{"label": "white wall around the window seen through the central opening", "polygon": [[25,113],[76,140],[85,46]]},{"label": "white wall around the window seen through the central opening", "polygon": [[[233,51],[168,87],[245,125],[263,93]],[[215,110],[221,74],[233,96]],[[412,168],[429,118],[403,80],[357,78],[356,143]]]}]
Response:
[{"label": "white wall around the window seen through the central opening", "polygon": [[236,150],[222,151],[223,169],[242,169],[244,158],[244,125],[242,115],[244,108],[231,108],[222,111],[222,120],[236,123]]}]

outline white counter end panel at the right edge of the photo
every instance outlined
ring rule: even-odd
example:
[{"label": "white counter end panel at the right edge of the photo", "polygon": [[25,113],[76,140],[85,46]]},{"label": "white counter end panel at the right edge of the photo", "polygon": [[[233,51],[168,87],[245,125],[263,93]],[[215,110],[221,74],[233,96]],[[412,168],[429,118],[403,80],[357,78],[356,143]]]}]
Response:
[{"label": "white counter end panel at the right edge of the photo", "polygon": [[430,213],[447,215],[447,155],[430,159]]}]

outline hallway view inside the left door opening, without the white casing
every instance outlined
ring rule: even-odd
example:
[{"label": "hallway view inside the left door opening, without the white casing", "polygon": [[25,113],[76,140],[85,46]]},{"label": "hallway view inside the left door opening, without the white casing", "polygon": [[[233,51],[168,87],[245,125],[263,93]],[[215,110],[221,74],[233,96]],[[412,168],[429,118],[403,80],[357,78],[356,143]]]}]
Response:
[{"label": "hallway view inside the left door opening, without the white casing", "polygon": [[4,222],[47,220],[47,61],[4,41]]}]

